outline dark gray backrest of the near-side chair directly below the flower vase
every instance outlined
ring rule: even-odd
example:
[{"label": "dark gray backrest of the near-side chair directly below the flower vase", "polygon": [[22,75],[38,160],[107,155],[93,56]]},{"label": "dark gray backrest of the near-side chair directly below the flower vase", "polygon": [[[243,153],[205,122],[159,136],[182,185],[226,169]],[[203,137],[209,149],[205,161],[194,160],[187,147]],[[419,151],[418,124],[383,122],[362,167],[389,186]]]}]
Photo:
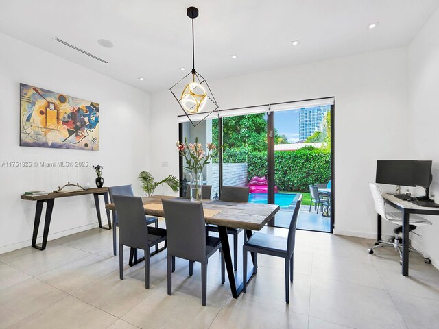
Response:
[{"label": "dark gray backrest of the near-side chair directly below the flower vase", "polygon": [[184,199],[162,200],[165,211],[167,252],[206,264],[206,223],[203,205]]}]

